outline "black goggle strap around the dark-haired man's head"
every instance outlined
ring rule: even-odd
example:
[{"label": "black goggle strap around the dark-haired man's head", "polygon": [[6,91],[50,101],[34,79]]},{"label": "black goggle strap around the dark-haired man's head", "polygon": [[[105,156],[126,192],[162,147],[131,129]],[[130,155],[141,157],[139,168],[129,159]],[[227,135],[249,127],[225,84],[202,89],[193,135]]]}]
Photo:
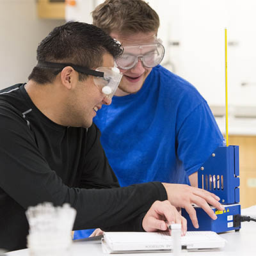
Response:
[{"label": "black goggle strap around the dark-haired man's head", "polygon": [[91,76],[97,76],[97,77],[104,77],[104,72],[96,71],[90,68],[82,67],[79,65],[74,65],[72,63],[54,63],[54,62],[47,62],[47,61],[38,61],[36,64],[36,67],[45,67],[45,68],[65,68],[65,67],[72,67],[77,72],[91,75]]}]

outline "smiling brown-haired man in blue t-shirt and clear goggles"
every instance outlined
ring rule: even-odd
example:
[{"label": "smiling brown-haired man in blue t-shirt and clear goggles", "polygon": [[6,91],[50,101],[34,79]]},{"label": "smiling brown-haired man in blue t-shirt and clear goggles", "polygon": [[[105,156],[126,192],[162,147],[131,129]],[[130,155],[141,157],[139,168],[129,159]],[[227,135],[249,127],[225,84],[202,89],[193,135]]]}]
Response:
[{"label": "smiling brown-haired man in blue t-shirt and clear goggles", "polygon": [[197,186],[197,170],[223,145],[223,136],[196,88],[160,65],[157,13],[143,0],[106,0],[92,16],[124,47],[112,104],[93,118],[120,185],[157,180]]}]

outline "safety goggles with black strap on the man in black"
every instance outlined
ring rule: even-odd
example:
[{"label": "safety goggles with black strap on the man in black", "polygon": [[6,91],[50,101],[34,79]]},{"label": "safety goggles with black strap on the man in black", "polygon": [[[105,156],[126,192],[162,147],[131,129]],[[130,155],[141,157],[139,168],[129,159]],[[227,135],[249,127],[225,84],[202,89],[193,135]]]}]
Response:
[{"label": "safety goggles with black strap on the man in black", "polygon": [[[118,85],[122,79],[122,74],[116,67],[99,67],[96,70],[74,65],[71,63],[53,63],[53,62],[42,62],[38,61],[36,67],[45,68],[59,68],[63,69],[67,66],[74,68],[79,73],[91,75],[93,77],[93,82],[108,97],[111,99],[118,88]],[[59,73],[59,72],[58,72]],[[54,73],[54,74],[58,74]]]}]

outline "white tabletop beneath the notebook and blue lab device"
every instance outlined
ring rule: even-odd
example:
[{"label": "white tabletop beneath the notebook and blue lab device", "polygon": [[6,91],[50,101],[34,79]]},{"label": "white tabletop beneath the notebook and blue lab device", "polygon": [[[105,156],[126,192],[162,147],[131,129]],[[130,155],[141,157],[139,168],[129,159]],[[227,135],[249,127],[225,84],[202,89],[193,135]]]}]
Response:
[{"label": "white tabletop beneath the notebook and blue lab device", "polygon": [[[256,206],[253,207],[253,212],[255,211]],[[248,211],[250,210],[250,211]],[[248,213],[252,212],[252,209],[242,210],[242,214],[249,215]],[[250,215],[252,216],[252,215]],[[223,234],[220,234],[221,237],[227,240],[227,243],[224,248],[219,251],[214,252],[184,252],[182,255],[199,255],[199,256],[213,256],[213,255],[232,255],[232,256],[255,256],[256,255],[256,222],[243,222],[241,230],[239,232],[230,231]],[[167,255],[172,253],[129,253],[129,254],[120,254],[122,256],[134,256],[134,255],[143,255],[143,256],[156,256],[156,255]],[[13,252],[6,253],[6,256],[29,256],[28,249],[18,250]],[[79,256],[79,255],[93,255],[93,256],[103,256],[101,244],[88,243],[88,242],[79,242],[73,243],[71,247],[70,256]],[[115,254],[116,255],[116,254]],[[52,255],[54,256],[54,255]]]}]

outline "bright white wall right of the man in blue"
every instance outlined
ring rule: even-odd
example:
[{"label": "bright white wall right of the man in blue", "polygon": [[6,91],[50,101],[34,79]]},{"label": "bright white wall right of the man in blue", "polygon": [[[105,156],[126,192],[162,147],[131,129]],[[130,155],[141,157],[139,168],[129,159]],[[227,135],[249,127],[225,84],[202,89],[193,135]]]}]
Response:
[{"label": "bright white wall right of the man in blue", "polygon": [[[228,102],[230,106],[256,106],[255,0],[148,2],[161,19],[159,36],[167,45],[168,59],[163,63],[171,62],[175,72],[193,83],[211,106],[225,104],[224,29],[227,27]],[[168,42],[180,45],[168,47]]]}]

